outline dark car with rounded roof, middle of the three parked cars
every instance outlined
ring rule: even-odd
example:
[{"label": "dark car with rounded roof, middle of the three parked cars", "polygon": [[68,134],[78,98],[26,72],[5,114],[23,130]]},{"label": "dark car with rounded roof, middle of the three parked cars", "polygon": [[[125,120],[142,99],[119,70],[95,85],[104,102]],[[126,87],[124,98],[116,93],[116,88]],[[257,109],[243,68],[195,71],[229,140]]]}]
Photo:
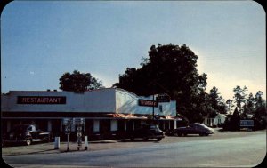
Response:
[{"label": "dark car with rounded roof, middle of the three parked cars", "polygon": [[139,129],[130,132],[131,140],[136,138],[141,138],[143,140],[157,139],[162,140],[165,137],[164,132],[162,132],[157,124],[141,124]]}]

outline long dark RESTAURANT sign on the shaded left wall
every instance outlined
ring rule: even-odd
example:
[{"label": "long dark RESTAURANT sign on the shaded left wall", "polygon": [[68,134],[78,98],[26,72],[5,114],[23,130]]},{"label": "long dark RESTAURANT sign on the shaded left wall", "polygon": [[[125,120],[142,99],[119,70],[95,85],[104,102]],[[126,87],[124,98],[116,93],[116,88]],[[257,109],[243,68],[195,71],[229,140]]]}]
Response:
[{"label": "long dark RESTAURANT sign on the shaded left wall", "polygon": [[66,104],[65,96],[18,96],[18,104]]}]

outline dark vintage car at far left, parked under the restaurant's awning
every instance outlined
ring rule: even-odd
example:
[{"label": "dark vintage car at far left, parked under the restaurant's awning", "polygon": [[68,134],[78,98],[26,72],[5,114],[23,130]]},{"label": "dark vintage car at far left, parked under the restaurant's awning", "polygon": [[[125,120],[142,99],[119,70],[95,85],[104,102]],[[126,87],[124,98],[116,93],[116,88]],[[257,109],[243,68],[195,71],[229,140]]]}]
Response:
[{"label": "dark vintage car at far left, parked under the restaurant's awning", "polygon": [[50,132],[36,129],[36,125],[34,124],[18,124],[4,135],[2,145],[5,143],[25,143],[26,145],[30,145],[32,142],[49,142],[50,140],[53,140]]}]

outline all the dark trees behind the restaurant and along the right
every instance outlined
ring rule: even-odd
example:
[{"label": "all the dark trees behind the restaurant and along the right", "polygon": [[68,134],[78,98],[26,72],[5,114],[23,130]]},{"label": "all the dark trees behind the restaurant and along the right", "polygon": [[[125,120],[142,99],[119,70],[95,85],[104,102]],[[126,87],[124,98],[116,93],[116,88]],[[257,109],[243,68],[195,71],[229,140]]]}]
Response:
[{"label": "all the dark trees behind the restaurant and along the right", "polygon": [[[112,87],[122,88],[137,95],[149,96],[166,93],[171,100],[176,100],[177,113],[190,123],[202,123],[206,117],[217,113],[227,114],[234,107],[239,113],[257,114],[261,108],[266,114],[266,102],[263,92],[253,96],[247,87],[239,85],[233,89],[232,100],[224,100],[215,86],[206,92],[207,75],[198,73],[198,55],[183,44],[152,45],[148,58],[142,58],[141,68],[126,68],[124,74],[118,76],[118,83]],[[65,73],[60,78],[60,89],[63,91],[85,92],[103,87],[101,81],[90,73],[81,74],[75,70]]]}]

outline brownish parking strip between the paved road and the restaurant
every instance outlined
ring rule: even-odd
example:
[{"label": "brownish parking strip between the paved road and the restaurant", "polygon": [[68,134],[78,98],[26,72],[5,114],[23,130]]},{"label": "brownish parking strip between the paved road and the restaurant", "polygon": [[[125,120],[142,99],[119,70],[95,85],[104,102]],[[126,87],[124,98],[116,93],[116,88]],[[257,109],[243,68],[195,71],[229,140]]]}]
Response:
[{"label": "brownish parking strip between the paved road and the restaurant", "polygon": [[[214,134],[209,136],[198,136],[198,135],[188,135],[186,137],[174,137],[166,136],[163,140],[97,140],[89,141],[89,146],[87,151],[95,150],[108,150],[110,148],[135,148],[142,146],[152,146],[155,144],[166,144],[166,143],[175,143],[182,141],[191,141],[191,140],[214,140],[214,139],[226,139],[234,137],[246,137],[247,135],[259,134],[266,132],[263,131],[240,131],[240,132],[221,132],[219,129],[215,129]],[[85,146],[83,143],[82,148],[79,151],[85,151]],[[51,153],[62,153],[67,152],[67,142],[61,142],[59,149],[54,149],[54,143],[36,143],[30,146],[10,146],[2,148],[3,156],[10,155],[25,155],[25,154],[51,154]],[[69,142],[69,152],[78,152],[77,143]]]}]

